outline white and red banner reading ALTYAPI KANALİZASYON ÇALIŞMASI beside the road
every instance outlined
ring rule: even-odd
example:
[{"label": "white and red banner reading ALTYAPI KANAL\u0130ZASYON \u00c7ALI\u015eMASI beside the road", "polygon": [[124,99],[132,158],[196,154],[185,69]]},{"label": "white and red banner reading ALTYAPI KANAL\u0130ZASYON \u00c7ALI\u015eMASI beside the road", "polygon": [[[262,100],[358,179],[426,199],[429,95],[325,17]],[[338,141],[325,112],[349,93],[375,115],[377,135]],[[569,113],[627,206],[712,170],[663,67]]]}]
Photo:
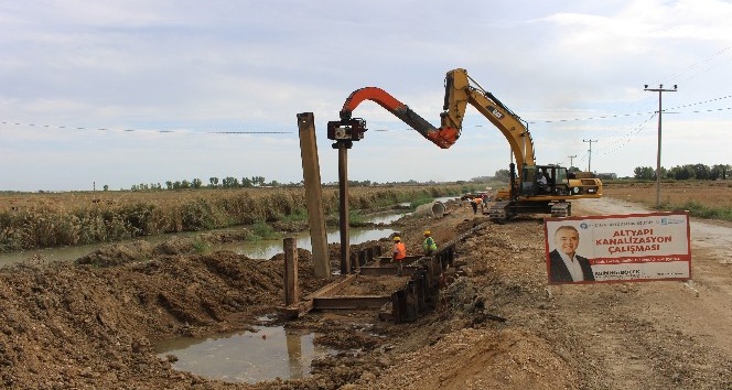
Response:
[{"label": "white and red banner reading ALTYAPI KANAL\u0130ZASYON \u00c7ALI\u015eMASI beside the road", "polygon": [[546,218],[549,284],[691,279],[687,212]]}]

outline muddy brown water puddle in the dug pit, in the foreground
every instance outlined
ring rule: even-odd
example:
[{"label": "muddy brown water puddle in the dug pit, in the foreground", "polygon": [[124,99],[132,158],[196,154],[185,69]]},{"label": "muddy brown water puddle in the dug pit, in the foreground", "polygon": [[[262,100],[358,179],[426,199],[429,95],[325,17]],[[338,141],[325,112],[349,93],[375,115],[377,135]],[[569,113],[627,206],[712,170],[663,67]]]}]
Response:
[{"label": "muddy brown water puddle in the dug pit, in the foreground", "polygon": [[301,379],[310,376],[312,361],[334,355],[334,349],[313,343],[315,334],[257,326],[256,332],[220,334],[198,339],[180,337],[155,346],[160,358],[177,359],[173,367],[209,379],[255,383],[265,380]]}]

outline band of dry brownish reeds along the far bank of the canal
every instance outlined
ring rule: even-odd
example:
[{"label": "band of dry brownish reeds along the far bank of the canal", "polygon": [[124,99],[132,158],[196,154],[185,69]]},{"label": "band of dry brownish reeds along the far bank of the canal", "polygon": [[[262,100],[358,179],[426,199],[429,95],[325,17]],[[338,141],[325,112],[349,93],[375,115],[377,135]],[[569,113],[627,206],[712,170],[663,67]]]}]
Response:
[{"label": "band of dry brownish reeds along the far bank of the canal", "polygon": [[[460,185],[353,187],[351,209],[471,191]],[[323,189],[337,214],[337,188]],[[117,241],[177,231],[271,223],[306,215],[303,188],[12,194],[0,196],[0,251]]]}]

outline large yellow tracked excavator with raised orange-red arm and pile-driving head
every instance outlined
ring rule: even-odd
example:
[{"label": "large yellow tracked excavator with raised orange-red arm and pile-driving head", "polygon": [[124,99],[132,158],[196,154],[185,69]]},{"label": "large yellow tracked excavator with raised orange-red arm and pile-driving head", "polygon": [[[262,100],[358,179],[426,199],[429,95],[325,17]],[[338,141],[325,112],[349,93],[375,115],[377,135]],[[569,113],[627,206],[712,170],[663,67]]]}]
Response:
[{"label": "large yellow tracked excavator with raised orange-red arm and pile-driving head", "polygon": [[[592,173],[574,174],[555,164],[537,165],[528,123],[483,89],[465,69],[453,69],[446,74],[440,128],[430,124],[385,90],[366,87],[348,96],[341,110],[341,120],[327,123],[329,139],[347,142],[348,148],[353,141],[363,139],[367,130],[366,121],[352,118],[352,113],[364,100],[375,101],[442,149],[450,148],[460,138],[467,104],[498,128],[510,145],[515,164],[509,164],[509,187],[498,191],[493,198],[495,202],[488,207],[487,214],[493,221],[504,223],[519,214],[568,217],[571,215],[568,201],[602,196],[602,182]],[[517,166],[520,174],[516,172]]]}]

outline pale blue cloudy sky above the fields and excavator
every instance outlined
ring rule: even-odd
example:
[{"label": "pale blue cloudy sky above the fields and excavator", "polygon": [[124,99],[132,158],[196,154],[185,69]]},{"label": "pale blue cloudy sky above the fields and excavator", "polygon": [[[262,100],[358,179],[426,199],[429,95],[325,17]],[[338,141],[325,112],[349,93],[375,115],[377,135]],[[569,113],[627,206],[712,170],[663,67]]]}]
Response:
[{"label": "pale blue cloudy sky above the fields and excavator", "polygon": [[[335,182],[325,124],[353,90],[383,88],[439,126],[459,67],[529,122],[538,163],[655,167],[658,94],[644,85],[663,84],[678,91],[663,95],[661,164],[731,164],[731,20],[719,0],[0,0],[0,189],[297,183],[299,112],[314,113]],[[472,107],[448,150],[374,102],[354,116],[369,131],[348,152],[352,180],[470,180],[509,163]]]}]

